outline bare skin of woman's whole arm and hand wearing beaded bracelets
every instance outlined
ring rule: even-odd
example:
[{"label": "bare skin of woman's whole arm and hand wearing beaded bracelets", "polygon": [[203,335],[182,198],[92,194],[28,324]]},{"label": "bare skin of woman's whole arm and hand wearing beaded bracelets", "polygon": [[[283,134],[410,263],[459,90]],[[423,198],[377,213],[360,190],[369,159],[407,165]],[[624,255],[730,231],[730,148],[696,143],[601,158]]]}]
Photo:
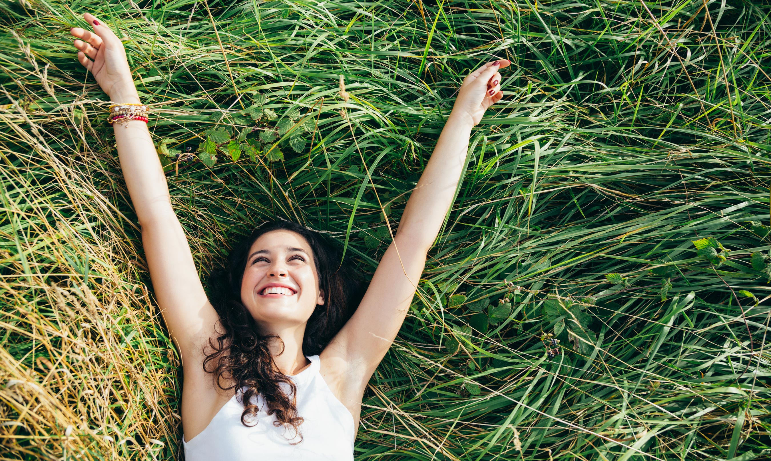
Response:
[{"label": "bare skin of woman's whole arm and hand wearing beaded bracelets", "polygon": [[[83,17],[96,33],[72,29],[78,38],[74,42],[78,60],[93,73],[113,103],[140,103],[123,43],[93,15]],[[147,266],[163,320],[183,363],[200,368],[201,348],[214,335],[217,312],[207,299],[187,237],[171,206],[166,176],[147,125],[130,120],[113,127],[120,168],[142,226]]]}]

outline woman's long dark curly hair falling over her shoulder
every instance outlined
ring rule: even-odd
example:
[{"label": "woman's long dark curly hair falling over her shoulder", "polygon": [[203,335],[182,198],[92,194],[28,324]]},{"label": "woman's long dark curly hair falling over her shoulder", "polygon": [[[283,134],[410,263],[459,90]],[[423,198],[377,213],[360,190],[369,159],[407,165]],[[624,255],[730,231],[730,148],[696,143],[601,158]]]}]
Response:
[{"label": "woman's long dark curly hair falling over her shoulder", "polygon": [[[247,387],[241,424],[249,426],[245,422],[246,417],[258,414],[260,408],[251,403],[251,398],[261,394],[268,415],[276,415],[274,425],[291,427],[298,434],[298,426],[303,419],[296,407],[297,387],[278,370],[268,348],[269,342],[278,336],[262,335],[254,317],[241,303],[241,280],[246,269],[247,253],[254,241],[274,230],[296,232],[308,241],[313,251],[319,288],[325,293],[325,303],[316,305],[305,327],[302,341],[304,355],[321,353],[362,300],[365,288],[362,278],[350,262],[342,260],[331,239],[296,222],[283,219],[264,222],[231,249],[224,270],[210,277],[210,300],[219,314],[224,333],[217,332],[216,345],[209,339],[212,351],[204,351],[204,371],[212,373],[217,386],[224,391]],[[278,338],[278,341],[281,339]],[[234,384],[223,387],[220,380],[224,377]],[[290,389],[289,395],[282,391],[281,383]]]}]

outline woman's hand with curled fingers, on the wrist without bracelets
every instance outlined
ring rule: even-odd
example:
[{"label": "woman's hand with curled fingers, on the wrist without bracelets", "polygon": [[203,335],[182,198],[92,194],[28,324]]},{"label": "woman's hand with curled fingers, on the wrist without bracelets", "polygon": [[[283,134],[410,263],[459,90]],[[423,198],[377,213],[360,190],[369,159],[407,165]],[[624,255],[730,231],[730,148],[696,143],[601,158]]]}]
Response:
[{"label": "woman's hand with curled fingers, on the wrist without bracelets", "polygon": [[487,107],[503,97],[498,70],[510,63],[507,59],[498,59],[481,66],[463,79],[451,115],[466,118],[473,125],[480,123]]}]

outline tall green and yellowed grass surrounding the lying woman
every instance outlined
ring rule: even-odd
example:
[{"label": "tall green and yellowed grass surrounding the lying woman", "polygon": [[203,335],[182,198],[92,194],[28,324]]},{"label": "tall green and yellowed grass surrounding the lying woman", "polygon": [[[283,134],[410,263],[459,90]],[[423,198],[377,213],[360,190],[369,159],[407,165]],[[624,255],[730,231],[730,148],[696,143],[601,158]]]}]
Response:
[{"label": "tall green and yellowed grass surrounding the lying woman", "polygon": [[463,76],[512,60],[357,459],[771,453],[767,3],[0,9],[0,459],[181,456],[86,11],[125,40],[202,277],[275,215],[372,273]]}]

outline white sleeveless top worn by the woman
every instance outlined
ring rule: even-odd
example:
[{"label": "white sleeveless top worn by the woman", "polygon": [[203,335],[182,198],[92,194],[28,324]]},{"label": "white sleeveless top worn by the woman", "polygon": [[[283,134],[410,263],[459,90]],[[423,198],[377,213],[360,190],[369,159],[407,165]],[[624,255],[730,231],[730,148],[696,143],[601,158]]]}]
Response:
[{"label": "white sleeveless top worn by the woman", "polygon": [[[310,366],[297,375],[289,376],[297,385],[297,412],[304,420],[299,425],[302,442],[294,429],[273,425],[276,415],[264,412],[262,395],[253,396],[251,402],[258,405],[257,424],[253,417],[244,420],[252,427],[241,424],[244,412],[243,392],[236,392],[222,409],[214,415],[204,432],[182,443],[187,461],[353,461],[355,427],[353,416],[329,389],[319,372],[318,355],[308,357]],[[280,384],[284,392],[289,386]]]}]

